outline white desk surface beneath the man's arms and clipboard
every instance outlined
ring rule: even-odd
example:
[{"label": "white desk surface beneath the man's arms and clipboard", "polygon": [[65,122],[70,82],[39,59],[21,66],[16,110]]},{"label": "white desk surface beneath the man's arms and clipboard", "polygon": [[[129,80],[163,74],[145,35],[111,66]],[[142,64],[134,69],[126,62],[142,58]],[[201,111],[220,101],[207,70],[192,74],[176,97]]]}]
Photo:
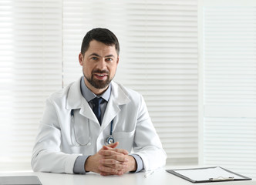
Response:
[{"label": "white desk surface beneath the man's arms and clipboard", "polygon": [[[77,174],[60,174],[60,173],[35,173],[35,172],[21,172],[21,173],[0,173],[0,176],[18,176],[18,175],[35,175],[39,177],[42,185],[80,185],[80,184],[104,184],[104,185],[188,185],[194,184],[180,177],[176,177],[167,173],[164,168],[155,170],[149,177],[145,178],[143,172],[140,173],[126,173],[123,176],[109,176],[103,177],[97,173],[87,173],[86,175]],[[255,180],[232,181],[221,183],[196,183],[199,185],[256,185]]]}]

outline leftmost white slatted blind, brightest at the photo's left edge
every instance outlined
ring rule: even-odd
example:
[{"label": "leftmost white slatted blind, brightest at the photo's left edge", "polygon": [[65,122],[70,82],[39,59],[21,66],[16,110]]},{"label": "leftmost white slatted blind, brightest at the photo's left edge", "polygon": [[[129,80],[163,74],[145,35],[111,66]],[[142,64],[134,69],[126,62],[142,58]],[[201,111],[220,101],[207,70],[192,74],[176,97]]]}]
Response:
[{"label": "leftmost white slatted blind, brightest at the photo's left edge", "polygon": [[60,0],[0,2],[0,170],[29,170],[45,98],[62,87]]}]

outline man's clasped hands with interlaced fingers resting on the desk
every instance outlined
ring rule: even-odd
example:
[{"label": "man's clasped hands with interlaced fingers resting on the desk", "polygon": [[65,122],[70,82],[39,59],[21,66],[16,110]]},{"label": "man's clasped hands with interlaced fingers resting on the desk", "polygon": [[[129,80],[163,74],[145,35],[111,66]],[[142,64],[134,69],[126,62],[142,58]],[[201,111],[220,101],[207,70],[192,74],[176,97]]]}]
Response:
[{"label": "man's clasped hands with interlaced fingers resting on the desk", "polygon": [[136,170],[136,161],[124,149],[116,149],[118,142],[103,146],[98,153],[89,156],[85,163],[86,171],[100,173],[103,176],[123,175]]}]

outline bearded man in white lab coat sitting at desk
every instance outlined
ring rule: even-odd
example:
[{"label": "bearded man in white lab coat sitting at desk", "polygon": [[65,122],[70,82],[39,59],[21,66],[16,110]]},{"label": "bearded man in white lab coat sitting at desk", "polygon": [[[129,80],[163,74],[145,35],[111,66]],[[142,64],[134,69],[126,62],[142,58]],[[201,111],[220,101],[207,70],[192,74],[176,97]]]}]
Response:
[{"label": "bearded man in white lab coat sitting at desk", "polygon": [[33,170],[106,176],[165,165],[143,97],[112,81],[119,52],[113,32],[87,32],[79,53],[83,77],[46,101]]}]

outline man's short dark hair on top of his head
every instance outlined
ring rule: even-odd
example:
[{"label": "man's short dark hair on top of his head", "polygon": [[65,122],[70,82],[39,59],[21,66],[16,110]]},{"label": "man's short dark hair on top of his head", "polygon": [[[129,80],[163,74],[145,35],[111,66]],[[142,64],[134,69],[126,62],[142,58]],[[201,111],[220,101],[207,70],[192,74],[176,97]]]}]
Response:
[{"label": "man's short dark hair on top of his head", "polygon": [[89,42],[96,40],[103,42],[105,45],[115,45],[117,55],[120,53],[120,45],[116,35],[109,29],[96,28],[86,33],[81,45],[81,53],[84,55],[89,48]]}]

